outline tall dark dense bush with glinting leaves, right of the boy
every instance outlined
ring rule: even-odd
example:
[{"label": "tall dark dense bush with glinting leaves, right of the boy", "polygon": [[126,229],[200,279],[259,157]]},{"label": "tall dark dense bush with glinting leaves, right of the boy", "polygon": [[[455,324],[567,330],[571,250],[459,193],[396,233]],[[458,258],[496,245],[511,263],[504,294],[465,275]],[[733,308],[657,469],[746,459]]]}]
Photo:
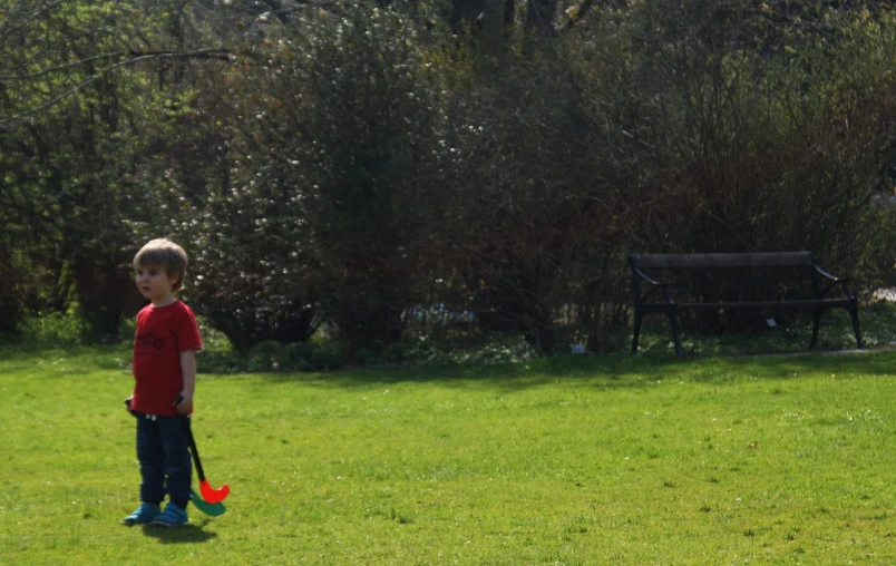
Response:
[{"label": "tall dark dense bush with glinting leaves, right of the boy", "polygon": [[431,209],[438,90],[427,31],[406,13],[363,2],[332,11],[308,10],[272,35],[269,65],[247,71],[264,94],[237,103],[250,119],[236,150],[241,178],[257,183],[237,191],[280,209],[262,221],[291,245],[283,256],[296,261],[280,266],[309,274],[353,351],[398,340],[416,304],[411,248]]}]

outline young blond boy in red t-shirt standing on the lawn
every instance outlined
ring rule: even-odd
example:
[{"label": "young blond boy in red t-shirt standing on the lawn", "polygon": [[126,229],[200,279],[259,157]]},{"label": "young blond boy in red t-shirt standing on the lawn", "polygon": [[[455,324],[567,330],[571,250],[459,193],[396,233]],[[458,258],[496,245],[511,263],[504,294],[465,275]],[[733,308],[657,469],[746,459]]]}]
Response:
[{"label": "young blond boy in red t-shirt standing on the lawn", "polygon": [[[125,525],[187,524],[193,467],[183,419],[193,412],[196,352],[202,350],[202,340],[193,311],[174,296],[186,266],[184,250],[167,240],[153,240],[134,256],[137,289],[150,304],[137,314],[135,386],[128,399],[137,417],[143,502],[125,517]],[[168,505],[163,513],[166,492]]]}]

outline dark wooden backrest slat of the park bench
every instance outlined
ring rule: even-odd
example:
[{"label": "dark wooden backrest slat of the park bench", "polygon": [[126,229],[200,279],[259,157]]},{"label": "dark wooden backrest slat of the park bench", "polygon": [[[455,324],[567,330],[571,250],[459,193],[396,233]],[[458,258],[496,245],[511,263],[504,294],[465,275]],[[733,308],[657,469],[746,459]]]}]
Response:
[{"label": "dark wooden backrest slat of the park bench", "polygon": [[711,267],[797,267],[815,264],[812,252],[764,252],[741,254],[630,254],[629,262],[642,270]]}]

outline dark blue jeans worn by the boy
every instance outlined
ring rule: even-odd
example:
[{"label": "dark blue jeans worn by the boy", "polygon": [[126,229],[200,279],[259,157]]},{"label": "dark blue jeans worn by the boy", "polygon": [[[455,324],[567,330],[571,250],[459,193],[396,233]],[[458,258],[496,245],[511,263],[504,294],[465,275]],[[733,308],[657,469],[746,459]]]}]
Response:
[{"label": "dark blue jeans worn by the boy", "polygon": [[137,459],[140,461],[140,500],[168,499],[186,506],[189,501],[193,465],[184,417],[137,417]]}]

